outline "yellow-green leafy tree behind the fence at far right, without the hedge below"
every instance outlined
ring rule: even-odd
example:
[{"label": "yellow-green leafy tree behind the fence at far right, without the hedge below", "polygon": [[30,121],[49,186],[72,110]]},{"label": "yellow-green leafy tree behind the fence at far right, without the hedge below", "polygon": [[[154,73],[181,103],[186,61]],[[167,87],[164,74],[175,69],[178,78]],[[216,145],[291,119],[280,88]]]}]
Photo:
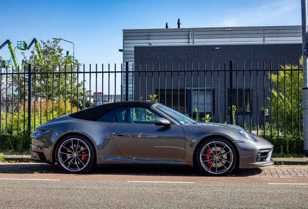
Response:
[{"label": "yellow-green leafy tree behind the fence at far right, without the hedge below", "polygon": [[278,87],[278,89],[272,88],[271,92],[273,96],[272,98],[267,98],[272,104],[272,109],[269,106],[269,113],[274,119],[274,129],[280,133],[286,131],[287,135],[284,136],[285,138],[292,138],[303,132],[303,71],[298,70],[299,67],[302,68],[302,64],[303,59],[300,58],[300,66],[288,64],[280,66],[285,71],[278,71],[277,74],[268,73],[269,79]]}]

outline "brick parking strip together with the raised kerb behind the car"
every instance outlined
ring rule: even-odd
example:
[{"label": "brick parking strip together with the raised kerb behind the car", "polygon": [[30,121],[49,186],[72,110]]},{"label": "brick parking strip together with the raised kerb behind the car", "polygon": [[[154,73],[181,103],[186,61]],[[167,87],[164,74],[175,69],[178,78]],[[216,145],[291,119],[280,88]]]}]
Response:
[{"label": "brick parking strip together with the raised kerb behind the car", "polygon": [[[0,173],[64,174],[57,164],[34,163],[29,155],[3,155]],[[308,178],[308,158],[273,158],[276,165],[232,171],[230,177]],[[10,161],[17,163],[10,163]],[[198,168],[108,167],[93,169],[90,175],[204,177]]]}]

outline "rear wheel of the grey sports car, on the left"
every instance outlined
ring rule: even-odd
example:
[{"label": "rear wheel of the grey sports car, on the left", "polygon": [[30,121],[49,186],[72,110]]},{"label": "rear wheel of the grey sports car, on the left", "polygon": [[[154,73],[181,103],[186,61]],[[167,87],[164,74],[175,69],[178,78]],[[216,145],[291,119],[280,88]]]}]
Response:
[{"label": "rear wheel of the grey sports car, on the left", "polygon": [[94,167],[91,143],[80,135],[63,138],[55,151],[59,167],[66,173],[86,173]]}]

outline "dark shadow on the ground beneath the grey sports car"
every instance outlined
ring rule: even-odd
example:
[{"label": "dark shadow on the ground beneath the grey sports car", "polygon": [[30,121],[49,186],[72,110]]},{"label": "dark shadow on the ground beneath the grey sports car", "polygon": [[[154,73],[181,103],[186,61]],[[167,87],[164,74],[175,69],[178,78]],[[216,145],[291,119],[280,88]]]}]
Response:
[{"label": "dark shadow on the ground beneath the grey sports car", "polygon": [[[0,173],[52,173],[65,174],[57,164],[42,163],[16,163],[0,164]],[[229,177],[247,177],[256,176],[262,173],[261,168],[251,168],[245,170],[234,169]],[[92,169],[85,175],[132,175],[132,176],[191,176],[203,177],[205,175],[199,168],[166,168],[166,167],[99,167]]]}]

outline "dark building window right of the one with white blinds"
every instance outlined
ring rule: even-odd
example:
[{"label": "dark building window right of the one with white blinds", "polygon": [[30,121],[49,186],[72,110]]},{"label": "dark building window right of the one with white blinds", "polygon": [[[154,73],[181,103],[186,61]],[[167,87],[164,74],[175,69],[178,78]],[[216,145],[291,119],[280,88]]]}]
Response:
[{"label": "dark building window right of the one with white blinds", "polygon": [[[228,93],[230,90],[228,90]],[[250,90],[232,90],[232,103],[236,107],[238,114],[250,113],[251,111],[251,92]],[[229,107],[230,107],[230,98],[229,98]],[[229,111],[230,113],[230,111]]]}]

